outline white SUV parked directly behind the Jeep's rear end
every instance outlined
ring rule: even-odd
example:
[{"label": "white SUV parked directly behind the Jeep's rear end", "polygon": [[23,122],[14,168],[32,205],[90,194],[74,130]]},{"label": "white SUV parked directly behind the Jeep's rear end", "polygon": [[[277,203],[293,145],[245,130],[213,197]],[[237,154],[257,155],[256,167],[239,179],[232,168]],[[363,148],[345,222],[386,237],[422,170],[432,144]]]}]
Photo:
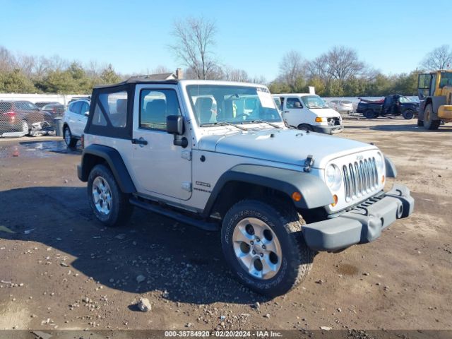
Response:
[{"label": "white SUV parked directly behind the Jeep's rear end", "polygon": [[68,147],[74,147],[78,139],[83,136],[88,114],[90,113],[90,100],[76,100],[69,104],[63,115],[63,136]]}]

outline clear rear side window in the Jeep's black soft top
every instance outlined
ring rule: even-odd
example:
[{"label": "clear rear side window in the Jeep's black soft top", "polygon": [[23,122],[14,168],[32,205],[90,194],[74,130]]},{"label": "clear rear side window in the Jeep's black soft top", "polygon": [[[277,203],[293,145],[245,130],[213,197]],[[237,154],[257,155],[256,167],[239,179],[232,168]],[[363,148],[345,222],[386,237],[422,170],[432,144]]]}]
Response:
[{"label": "clear rear side window in the Jeep's black soft top", "polygon": [[[105,114],[111,121],[113,127],[125,127],[127,123],[127,92],[103,93],[98,97],[100,104],[105,109]],[[95,124],[96,112],[100,111],[96,105],[95,116],[93,117],[93,124]],[[100,117],[100,112],[97,112],[97,124],[105,126],[107,123],[105,117]]]}]

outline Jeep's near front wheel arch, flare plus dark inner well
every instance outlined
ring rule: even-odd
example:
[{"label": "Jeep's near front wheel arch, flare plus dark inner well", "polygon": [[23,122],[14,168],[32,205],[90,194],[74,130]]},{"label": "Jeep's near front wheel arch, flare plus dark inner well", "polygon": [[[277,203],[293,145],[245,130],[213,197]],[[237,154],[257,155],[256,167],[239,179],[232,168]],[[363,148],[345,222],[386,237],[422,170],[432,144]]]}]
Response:
[{"label": "Jeep's near front wheel arch, flare plus dark inner well", "polygon": [[[292,199],[294,192],[302,195],[300,201]],[[215,212],[224,215],[237,201],[268,196],[291,203],[298,210],[323,208],[334,203],[326,184],[311,174],[262,165],[237,165],[218,179],[203,216],[207,218]]]}]

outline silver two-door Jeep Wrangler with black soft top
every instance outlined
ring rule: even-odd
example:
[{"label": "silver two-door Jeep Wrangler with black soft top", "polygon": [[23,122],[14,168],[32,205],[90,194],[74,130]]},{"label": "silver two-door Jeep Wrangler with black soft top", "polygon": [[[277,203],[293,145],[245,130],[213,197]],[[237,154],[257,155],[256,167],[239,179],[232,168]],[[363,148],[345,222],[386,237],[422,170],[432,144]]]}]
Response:
[{"label": "silver two-door Jeep Wrangler with black soft top", "polygon": [[402,184],[383,190],[396,168],[379,148],[287,128],[253,83],[94,88],[82,141],[97,220],[125,226],[138,207],[210,231],[236,278],[270,297],[304,280],[317,251],[374,241],[414,207]]}]

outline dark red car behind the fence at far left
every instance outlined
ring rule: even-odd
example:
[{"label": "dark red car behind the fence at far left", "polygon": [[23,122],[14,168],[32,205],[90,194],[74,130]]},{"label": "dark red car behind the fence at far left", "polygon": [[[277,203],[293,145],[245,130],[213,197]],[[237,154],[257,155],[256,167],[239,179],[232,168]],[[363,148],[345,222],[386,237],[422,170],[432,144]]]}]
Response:
[{"label": "dark red car behind the fence at far left", "polygon": [[0,101],[0,136],[8,132],[28,134],[32,124],[44,120],[44,112],[32,102]]}]

